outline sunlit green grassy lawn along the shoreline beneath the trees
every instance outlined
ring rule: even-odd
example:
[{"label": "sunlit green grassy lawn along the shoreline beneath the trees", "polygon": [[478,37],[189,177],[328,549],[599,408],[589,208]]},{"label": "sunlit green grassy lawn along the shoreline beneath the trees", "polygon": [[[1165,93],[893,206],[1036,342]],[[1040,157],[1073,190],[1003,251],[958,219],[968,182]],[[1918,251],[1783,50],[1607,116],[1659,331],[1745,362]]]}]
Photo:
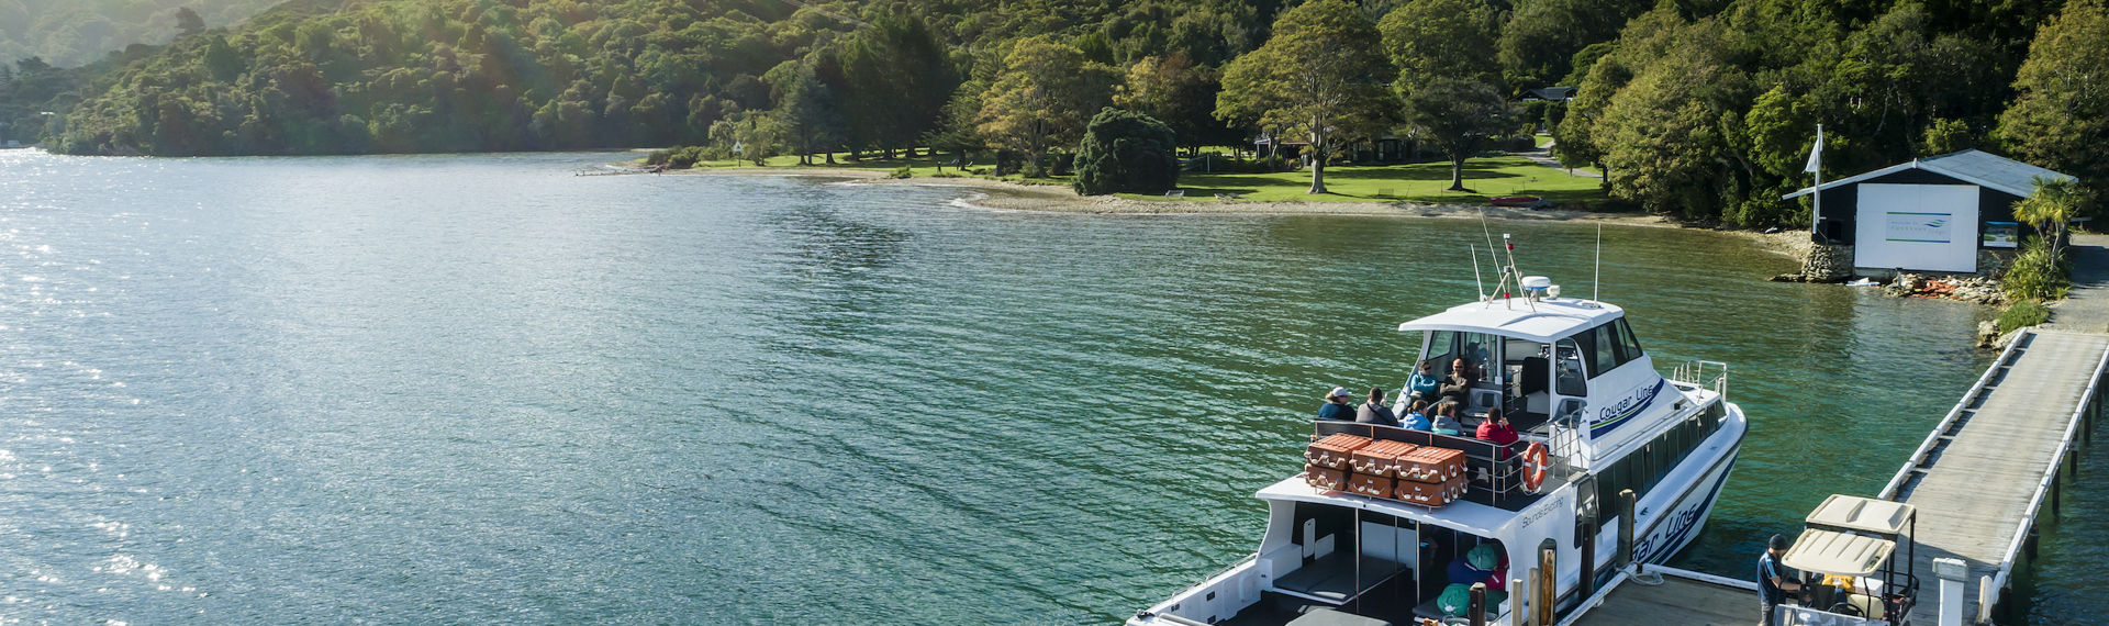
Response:
[{"label": "sunlit green grassy lawn along the shoreline beneath the trees", "polygon": [[[953,160],[957,156],[943,158],[865,158],[860,162],[844,160],[844,154],[835,156],[835,164],[825,164],[816,160],[812,169],[869,169],[892,173],[907,167],[917,179],[939,177],[939,160]],[[993,158],[976,158],[970,167],[983,171],[993,169]],[[696,169],[732,169],[732,167],[755,167],[753,162],[740,160],[707,160],[696,162]],[[782,169],[785,173],[795,173],[808,169],[797,164],[797,156],[776,156],[768,160],[768,169]],[[981,177],[998,179],[991,175],[966,175],[957,167],[945,167],[945,177]],[[1008,181],[1023,181],[1019,175],[1002,177]],[[1069,177],[1052,179],[1031,179],[1036,183],[1067,185]],[[1483,156],[1466,162],[1464,185],[1470,192],[1445,192],[1449,188],[1449,162],[1413,162],[1413,164],[1381,164],[1381,167],[1329,167],[1324,171],[1324,181],[1329,194],[1310,196],[1310,171],[1286,171],[1286,173],[1183,173],[1179,175],[1179,188],[1185,190],[1185,202],[1215,200],[1215,194],[1240,194],[1246,200],[1280,200],[1280,202],[1428,202],[1428,204],[1485,204],[1493,196],[1544,196],[1552,202],[1592,202],[1605,200],[1597,185],[1597,179],[1573,177],[1565,171],[1535,164],[1521,156]],[[1135,200],[1166,200],[1162,194],[1120,194]]]}]

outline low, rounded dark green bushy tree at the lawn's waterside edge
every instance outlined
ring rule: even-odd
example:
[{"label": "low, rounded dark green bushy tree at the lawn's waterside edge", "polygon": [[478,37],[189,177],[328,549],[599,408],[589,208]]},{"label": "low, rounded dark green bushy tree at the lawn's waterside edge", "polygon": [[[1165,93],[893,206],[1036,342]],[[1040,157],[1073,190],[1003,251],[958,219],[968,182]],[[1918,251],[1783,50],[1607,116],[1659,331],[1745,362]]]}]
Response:
[{"label": "low, rounded dark green bushy tree at the lawn's waterside edge", "polygon": [[1076,150],[1076,192],[1156,194],[1179,185],[1173,129],[1152,116],[1105,107]]}]

